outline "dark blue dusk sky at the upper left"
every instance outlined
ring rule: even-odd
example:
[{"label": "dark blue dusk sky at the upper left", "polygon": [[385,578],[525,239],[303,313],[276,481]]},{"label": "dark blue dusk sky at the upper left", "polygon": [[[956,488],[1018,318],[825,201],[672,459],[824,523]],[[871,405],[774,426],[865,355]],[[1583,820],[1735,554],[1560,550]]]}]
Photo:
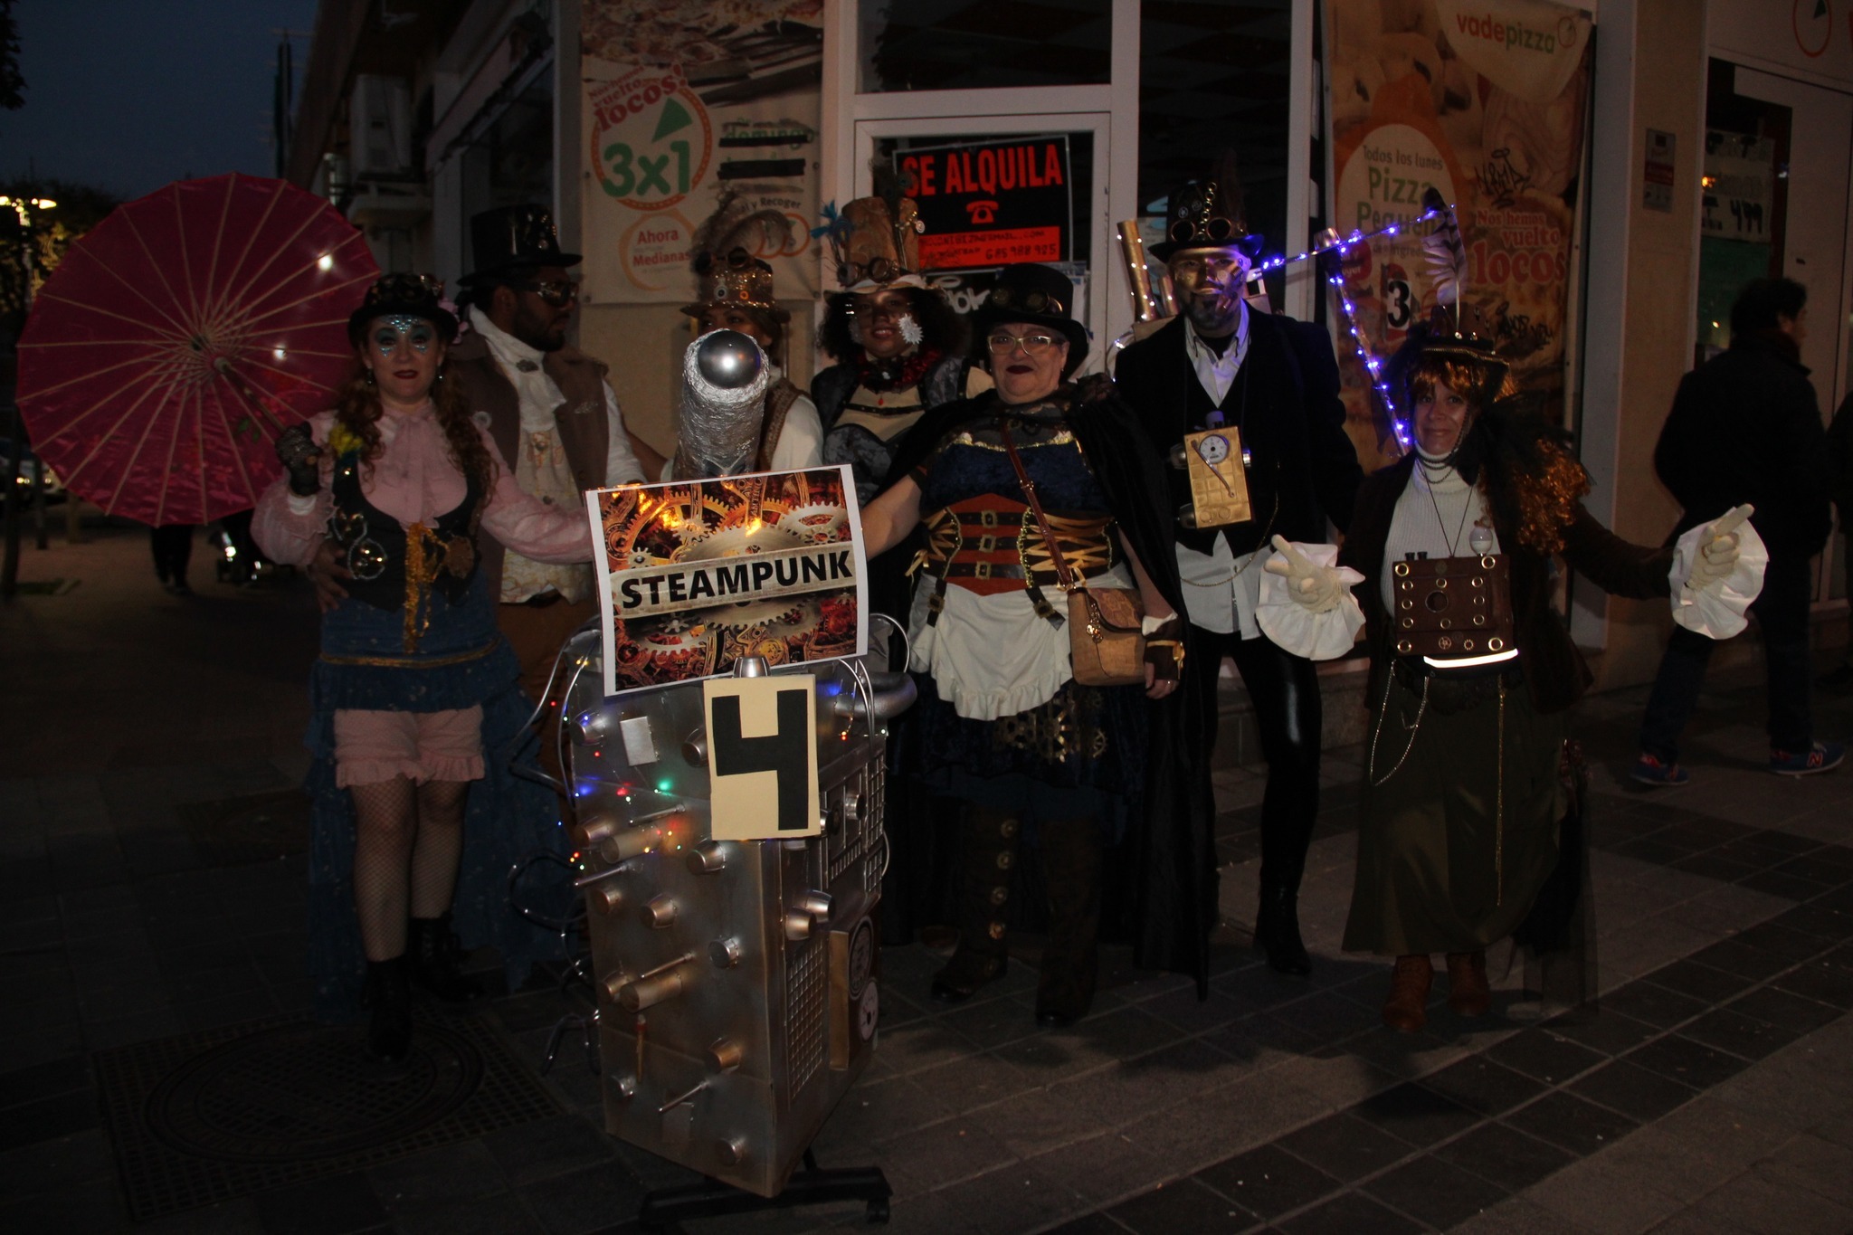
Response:
[{"label": "dark blue dusk sky at the upper left", "polygon": [[17,0],[26,106],[0,111],[0,180],[135,198],[185,176],[271,176],[280,30],[309,54],[315,0]]}]

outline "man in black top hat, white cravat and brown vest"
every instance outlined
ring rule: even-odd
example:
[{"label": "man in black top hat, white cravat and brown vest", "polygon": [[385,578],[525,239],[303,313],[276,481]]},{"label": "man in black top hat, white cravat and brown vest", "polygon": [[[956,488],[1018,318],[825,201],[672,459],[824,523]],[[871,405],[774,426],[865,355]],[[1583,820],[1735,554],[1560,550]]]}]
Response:
[{"label": "man in black top hat, white cravat and brown vest", "polygon": [[[469,331],[450,346],[460,383],[511,468],[541,502],[582,507],[587,489],[662,472],[662,455],[624,428],[606,365],[567,346],[578,285],[545,206],[502,206],[471,218],[474,268],[463,276]],[[482,537],[497,622],[521,657],[521,685],[539,700],[560,644],[597,613],[589,565],[556,567]],[[548,713],[550,715],[550,713]],[[558,776],[550,728],[541,757]]]}]

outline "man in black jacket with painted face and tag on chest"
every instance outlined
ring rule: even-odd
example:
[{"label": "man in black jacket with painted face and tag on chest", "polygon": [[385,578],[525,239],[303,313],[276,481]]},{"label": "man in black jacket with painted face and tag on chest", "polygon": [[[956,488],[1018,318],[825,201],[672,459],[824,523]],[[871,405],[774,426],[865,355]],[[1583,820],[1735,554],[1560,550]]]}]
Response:
[{"label": "man in black jacket with painted face and tag on chest", "polygon": [[[1299,879],[1319,813],[1319,680],[1312,661],[1269,642],[1254,626],[1269,537],[1325,541],[1327,518],[1343,528],[1364,470],[1345,435],[1338,361],[1327,331],[1251,311],[1242,298],[1262,248],[1242,222],[1240,189],[1203,180],[1171,194],[1171,224],[1153,254],[1171,268],[1180,315],[1121,354],[1116,378],[1140,413],[1153,448],[1171,457],[1179,511],[1177,559],[1190,611],[1186,672],[1199,676],[1216,737],[1216,680],[1236,663],[1254,702],[1267,791],[1262,798],[1262,900],[1254,942],[1284,974],[1310,972],[1299,935]],[[1197,528],[1180,465],[1186,433],[1236,428],[1249,452],[1254,517]]]}]

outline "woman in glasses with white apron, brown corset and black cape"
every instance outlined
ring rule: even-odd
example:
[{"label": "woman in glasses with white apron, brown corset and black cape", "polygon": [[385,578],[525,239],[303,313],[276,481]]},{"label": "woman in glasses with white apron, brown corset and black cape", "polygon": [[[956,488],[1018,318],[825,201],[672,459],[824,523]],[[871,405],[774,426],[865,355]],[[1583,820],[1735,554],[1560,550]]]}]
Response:
[{"label": "woman in glasses with white apron, brown corset and black cape", "polygon": [[[1110,387],[1103,396],[1099,385],[1082,393],[1069,381],[1088,354],[1073,294],[1051,267],[999,274],[975,315],[997,389],[925,420],[919,448],[897,465],[906,474],[863,511],[871,554],[926,530],[910,615],[921,683],[912,770],[967,804],[960,941],[934,974],[932,998],[960,1002],[1004,974],[1008,902],[1028,842],[1047,887],[1049,942],[1036,989],[1045,1026],[1073,1024],[1093,1000],[1103,870],[1136,870],[1171,889],[1180,887],[1177,876],[1190,883],[1210,874],[1191,874],[1191,848],[1179,842],[1191,822],[1208,839],[1208,791],[1175,763],[1182,744],[1169,696],[1182,657],[1177,567],[1154,500],[1164,483]],[[1075,681],[1062,565],[1090,585],[1136,589],[1143,600],[1151,642],[1141,685]],[[1193,783],[1201,792],[1190,792]],[[1191,807],[1201,811],[1195,820]],[[1121,852],[1121,842],[1132,844]],[[1195,955],[1184,955],[1193,944],[1177,946],[1177,917],[1134,894],[1143,902],[1134,915],[1140,963],[1193,972]]]}]

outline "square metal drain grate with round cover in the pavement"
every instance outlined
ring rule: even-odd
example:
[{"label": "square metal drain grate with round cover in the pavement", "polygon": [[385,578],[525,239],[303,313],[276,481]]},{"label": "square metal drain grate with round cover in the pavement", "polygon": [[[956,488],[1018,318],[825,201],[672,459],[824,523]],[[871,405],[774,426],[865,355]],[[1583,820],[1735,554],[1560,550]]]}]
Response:
[{"label": "square metal drain grate with round cover in the pavement", "polygon": [[98,1052],[135,1222],[558,1115],[480,1018],[419,1020],[393,1068],[363,1028],[259,1020]]}]

